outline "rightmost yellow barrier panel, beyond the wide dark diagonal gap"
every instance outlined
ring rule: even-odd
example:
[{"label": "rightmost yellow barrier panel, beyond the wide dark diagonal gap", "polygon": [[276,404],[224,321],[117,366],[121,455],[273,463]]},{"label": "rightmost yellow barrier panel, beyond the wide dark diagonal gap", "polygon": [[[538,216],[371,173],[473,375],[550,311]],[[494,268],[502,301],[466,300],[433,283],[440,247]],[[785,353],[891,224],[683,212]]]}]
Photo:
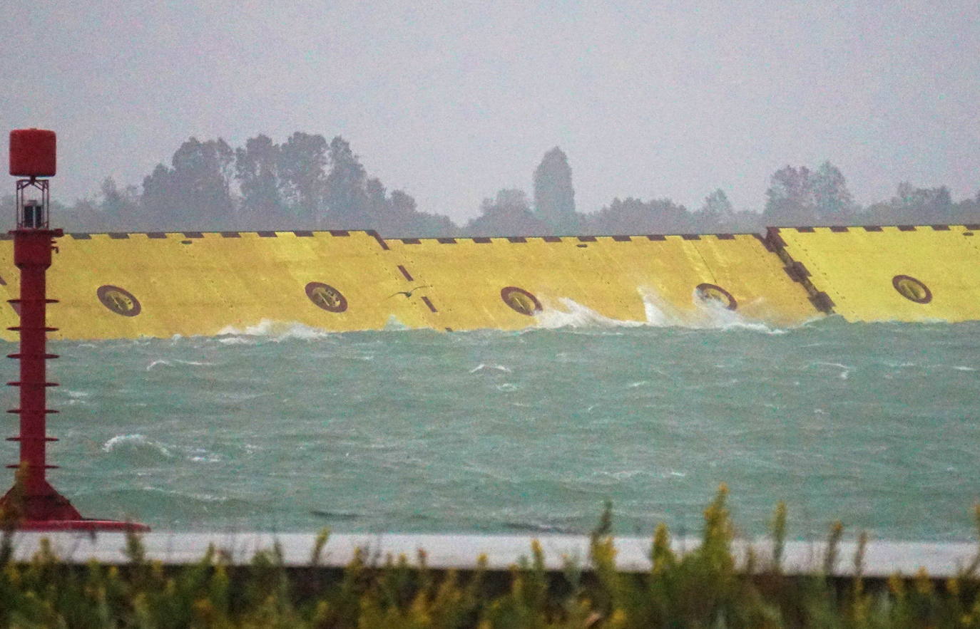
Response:
[{"label": "rightmost yellow barrier panel, beyond the wide dark diagonal gap", "polygon": [[980,319],[980,225],[773,228],[768,240],[848,321]]}]

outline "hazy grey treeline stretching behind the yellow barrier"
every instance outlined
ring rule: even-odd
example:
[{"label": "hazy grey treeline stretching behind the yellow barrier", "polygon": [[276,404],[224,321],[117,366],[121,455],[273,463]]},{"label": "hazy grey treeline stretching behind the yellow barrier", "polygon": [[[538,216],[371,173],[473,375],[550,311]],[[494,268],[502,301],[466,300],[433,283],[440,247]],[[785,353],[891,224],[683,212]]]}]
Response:
[{"label": "hazy grey treeline stretching behind the yellow barrier", "polygon": [[[13,214],[13,198],[0,202]],[[602,235],[758,232],[767,225],[870,225],[980,222],[980,192],[955,202],[948,188],[898,185],[889,200],[860,206],[829,161],[785,166],[769,179],[761,211],[736,210],[723,190],[690,210],[669,199],[613,199],[598,211],[575,205],[571,167],[558,147],[534,170],[534,189],[485,199],[464,225],[419,211],[401,190],[368,176],[342,137],[297,131],[276,144],[265,135],[232,149],[190,138],[141,186],[107,178],[93,199],[59,203],[69,231],[373,229],[386,237]]]}]

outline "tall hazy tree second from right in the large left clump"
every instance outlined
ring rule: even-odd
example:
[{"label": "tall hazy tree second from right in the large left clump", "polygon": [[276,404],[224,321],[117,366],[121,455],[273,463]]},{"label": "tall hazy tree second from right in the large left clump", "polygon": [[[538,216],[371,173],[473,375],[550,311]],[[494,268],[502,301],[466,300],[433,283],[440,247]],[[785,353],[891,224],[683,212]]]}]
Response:
[{"label": "tall hazy tree second from right in the large left clump", "polygon": [[297,131],[279,149],[282,194],[304,225],[322,218],[326,188],[326,140]]}]

